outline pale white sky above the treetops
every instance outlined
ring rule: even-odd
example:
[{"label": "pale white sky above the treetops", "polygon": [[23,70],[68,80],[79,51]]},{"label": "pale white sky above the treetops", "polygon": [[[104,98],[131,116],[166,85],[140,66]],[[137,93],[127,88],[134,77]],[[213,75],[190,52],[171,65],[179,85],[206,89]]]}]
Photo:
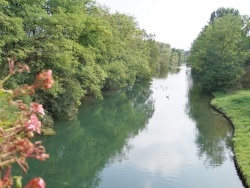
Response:
[{"label": "pale white sky above the treetops", "polygon": [[220,7],[235,8],[250,15],[249,0],[96,0],[110,8],[135,17],[141,29],[155,34],[159,42],[172,48],[189,50],[193,40]]}]

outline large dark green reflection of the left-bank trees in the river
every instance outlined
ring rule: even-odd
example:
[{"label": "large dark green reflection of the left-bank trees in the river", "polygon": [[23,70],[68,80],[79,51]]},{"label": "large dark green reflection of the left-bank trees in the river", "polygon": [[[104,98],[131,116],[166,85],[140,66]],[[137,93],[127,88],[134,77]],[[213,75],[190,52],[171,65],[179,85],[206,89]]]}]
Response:
[{"label": "large dark green reflection of the left-bank trees in the river", "polygon": [[128,139],[146,128],[153,113],[149,83],[88,102],[77,121],[57,122],[57,134],[41,138],[51,157],[44,163],[30,161],[25,182],[41,176],[51,188],[98,187],[98,173],[112,163],[110,159],[126,157]]}]

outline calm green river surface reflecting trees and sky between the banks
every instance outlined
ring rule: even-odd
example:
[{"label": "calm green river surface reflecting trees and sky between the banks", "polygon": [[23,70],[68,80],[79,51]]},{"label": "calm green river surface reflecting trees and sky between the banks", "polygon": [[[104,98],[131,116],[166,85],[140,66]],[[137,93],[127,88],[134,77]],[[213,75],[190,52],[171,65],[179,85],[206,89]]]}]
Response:
[{"label": "calm green river surface reflecting trees and sky between the banks", "polygon": [[238,188],[231,125],[186,67],[105,95],[42,137],[51,158],[30,161],[48,188]]}]

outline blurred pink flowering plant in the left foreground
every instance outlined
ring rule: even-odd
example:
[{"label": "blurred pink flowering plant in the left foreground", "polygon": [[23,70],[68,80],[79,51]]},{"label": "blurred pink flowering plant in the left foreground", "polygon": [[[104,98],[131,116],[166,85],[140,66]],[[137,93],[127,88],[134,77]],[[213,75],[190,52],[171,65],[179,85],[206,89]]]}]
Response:
[{"label": "blurred pink flowering plant in the left foreground", "polygon": [[[15,63],[13,59],[7,58],[10,74],[0,81],[0,100],[6,100],[7,105],[16,107],[15,118],[0,116],[0,188],[9,188],[13,185],[13,179],[21,187],[20,177],[11,176],[11,165],[17,163],[27,173],[28,164],[26,158],[36,158],[44,161],[49,158],[41,142],[32,143],[29,139],[34,133],[41,134],[40,117],[45,115],[41,104],[32,102],[29,105],[22,100],[15,100],[18,96],[31,95],[35,90],[50,89],[54,83],[52,71],[43,71],[37,75],[33,85],[23,85],[14,90],[6,90],[3,84],[16,72],[29,71],[27,65]],[[1,109],[4,109],[1,106]],[[46,183],[42,178],[32,179],[25,188],[44,188]]]}]

